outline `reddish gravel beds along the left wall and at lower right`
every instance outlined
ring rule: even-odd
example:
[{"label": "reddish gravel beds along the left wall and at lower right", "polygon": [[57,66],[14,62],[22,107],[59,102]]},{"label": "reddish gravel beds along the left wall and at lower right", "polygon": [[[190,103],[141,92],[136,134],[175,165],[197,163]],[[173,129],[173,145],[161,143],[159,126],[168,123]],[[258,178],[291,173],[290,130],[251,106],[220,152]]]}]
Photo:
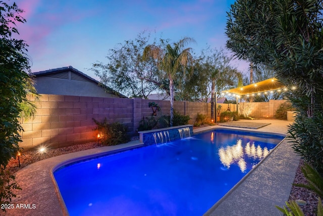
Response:
[{"label": "reddish gravel beds along the left wall and at lower right", "polygon": [[[138,140],[138,139],[139,137],[134,137],[131,140]],[[16,157],[15,159],[10,160],[7,168],[12,173],[15,173],[19,169],[31,163],[37,162],[39,160],[55,157],[62,154],[68,154],[72,152],[98,148],[98,147],[102,147],[102,145],[97,144],[97,142],[92,142],[92,143],[86,143],[86,144],[57,148],[57,149],[47,149],[43,153],[39,152],[38,150],[28,150],[28,151],[22,152],[22,155],[19,157],[21,167],[19,167],[18,157]],[[294,180],[295,184],[296,183],[307,184],[307,181],[301,172],[302,165],[303,165],[303,161],[301,160],[296,172],[296,176]],[[306,216],[316,215],[315,211],[316,211],[318,200],[317,200],[317,195],[314,192],[305,188],[293,186],[290,194],[290,200],[297,200],[297,199],[306,201],[305,205],[300,206]],[[280,207],[283,207],[283,206],[280,206]]]}]

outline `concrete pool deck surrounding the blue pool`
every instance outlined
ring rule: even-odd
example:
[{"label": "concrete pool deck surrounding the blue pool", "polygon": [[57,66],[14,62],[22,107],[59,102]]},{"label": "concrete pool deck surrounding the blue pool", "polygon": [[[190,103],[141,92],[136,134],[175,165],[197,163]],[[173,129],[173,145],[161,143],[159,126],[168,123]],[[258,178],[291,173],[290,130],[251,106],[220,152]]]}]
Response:
[{"label": "concrete pool deck surrounding the blue pool", "polygon": [[[243,128],[243,130],[278,134],[286,134],[288,125],[292,123],[276,119],[240,121],[271,123],[259,129]],[[216,125],[193,131],[199,133],[213,128],[242,129]],[[18,197],[12,202],[14,209],[8,209],[6,215],[68,215],[64,202],[59,198],[60,193],[55,187],[53,169],[65,164],[65,161],[76,161],[91,157],[93,154],[103,155],[106,152],[142,145],[139,141],[133,141],[117,146],[74,152],[41,160],[22,168],[17,172],[16,179],[23,190],[16,193]],[[275,205],[283,206],[288,200],[299,160],[300,157],[294,153],[285,139],[204,215],[283,215]],[[35,204],[35,208],[32,204]]]}]

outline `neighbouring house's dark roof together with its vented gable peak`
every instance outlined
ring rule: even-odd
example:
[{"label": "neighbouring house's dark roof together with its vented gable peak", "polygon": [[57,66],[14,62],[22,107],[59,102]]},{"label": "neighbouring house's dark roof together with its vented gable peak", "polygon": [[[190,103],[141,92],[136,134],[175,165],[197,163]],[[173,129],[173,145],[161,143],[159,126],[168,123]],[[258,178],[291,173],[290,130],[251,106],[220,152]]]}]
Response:
[{"label": "neighbouring house's dark roof together with its vented gable peak", "polygon": [[[72,73],[69,73],[70,71]],[[33,72],[32,74],[36,77],[36,81],[37,81],[37,77],[41,77],[41,76],[62,78],[62,79],[71,79],[71,80],[77,80],[77,81],[90,81],[90,82],[97,84],[102,89],[104,89],[104,91],[106,93],[116,95],[120,98],[127,98],[126,96],[122,95],[121,93],[111,89],[110,87],[107,87],[106,85],[93,79],[92,77],[86,75],[85,73],[82,73],[81,71],[73,68],[72,66],[49,69],[49,70],[44,70],[44,71],[38,71],[38,72]]]}]

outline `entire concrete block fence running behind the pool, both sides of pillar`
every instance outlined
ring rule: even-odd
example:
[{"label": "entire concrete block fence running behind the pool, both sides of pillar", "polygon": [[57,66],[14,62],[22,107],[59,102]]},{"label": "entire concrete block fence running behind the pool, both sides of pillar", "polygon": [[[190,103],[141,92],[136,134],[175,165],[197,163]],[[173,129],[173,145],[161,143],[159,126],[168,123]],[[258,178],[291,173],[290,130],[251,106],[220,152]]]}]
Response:
[{"label": "entire concrete block fence running behind the pool, both sides of pillar", "polygon": [[[21,133],[23,142],[19,146],[24,149],[39,146],[57,148],[97,141],[93,118],[98,121],[107,118],[111,123],[126,124],[131,135],[137,135],[139,121],[152,114],[149,102],[159,105],[157,116],[169,115],[170,101],[41,95],[36,103],[35,117],[21,122],[24,131]],[[223,104],[222,111],[226,111],[226,106]],[[275,109],[276,106],[268,105],[268,108]],[[174,109],[180,114],[189,115],[192,118],[190,124],[195,122],[197,113],[210,116],[209,103],[175,101]]]}]

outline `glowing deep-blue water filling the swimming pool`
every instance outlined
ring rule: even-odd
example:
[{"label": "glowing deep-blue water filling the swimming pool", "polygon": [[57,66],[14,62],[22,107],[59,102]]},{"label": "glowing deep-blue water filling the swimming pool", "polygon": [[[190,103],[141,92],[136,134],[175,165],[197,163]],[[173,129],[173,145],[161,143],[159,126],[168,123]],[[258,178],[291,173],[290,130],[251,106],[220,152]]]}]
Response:
[{"label": "glowing deep-blue water filling the swimming pool", "polygon": [[202,215],[284,137],[216,130],[54,172],[70,215]]}]

